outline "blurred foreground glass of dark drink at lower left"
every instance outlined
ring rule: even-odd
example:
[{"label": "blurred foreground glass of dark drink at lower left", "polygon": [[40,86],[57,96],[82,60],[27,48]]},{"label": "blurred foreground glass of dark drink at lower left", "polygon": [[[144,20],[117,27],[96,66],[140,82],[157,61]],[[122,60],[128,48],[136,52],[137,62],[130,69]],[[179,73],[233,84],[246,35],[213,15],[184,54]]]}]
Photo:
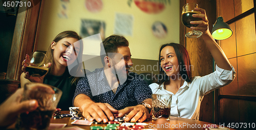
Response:
[{"label": "blurred foreground glass of dark drink at lower left", "polygon": [[38,107],[33,112],[21,113],[16,121],[16,128],[48,129],[61,95],[61,90],[48,84],[25,84],[22,101],[36,99]]}]

